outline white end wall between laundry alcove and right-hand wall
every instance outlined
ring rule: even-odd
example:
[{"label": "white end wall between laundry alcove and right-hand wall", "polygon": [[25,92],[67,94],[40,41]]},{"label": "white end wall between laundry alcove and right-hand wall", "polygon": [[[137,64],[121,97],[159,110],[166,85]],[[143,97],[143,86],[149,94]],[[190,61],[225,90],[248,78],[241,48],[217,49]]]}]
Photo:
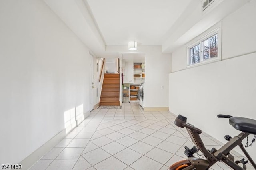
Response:
[{"label": "white end wall between laundry alcove and right-hand wall", "polygon": [[144,107],[168,107],[171,55],[152,46],[145,54]]}]

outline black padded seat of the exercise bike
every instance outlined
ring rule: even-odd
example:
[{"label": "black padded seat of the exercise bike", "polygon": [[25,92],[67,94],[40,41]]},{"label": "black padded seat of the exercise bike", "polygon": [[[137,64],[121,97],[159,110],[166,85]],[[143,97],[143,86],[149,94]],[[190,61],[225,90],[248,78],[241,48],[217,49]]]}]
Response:
[{"label": "black padded seat of the exercise bike", "polygon": [[229,124],[236,130],[256,134],[256,120],[245,117],[230,117]]}]

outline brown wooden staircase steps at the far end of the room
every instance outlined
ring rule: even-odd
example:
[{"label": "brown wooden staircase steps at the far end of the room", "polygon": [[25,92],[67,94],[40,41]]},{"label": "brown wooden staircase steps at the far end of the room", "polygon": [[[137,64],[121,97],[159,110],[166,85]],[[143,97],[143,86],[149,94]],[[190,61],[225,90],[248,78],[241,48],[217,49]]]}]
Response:
[{"label": "brown wooden staircase steps at the far end of the room", "polygon": [[105,74],[100,95],[100,106],[119,106],[120,75]]}]

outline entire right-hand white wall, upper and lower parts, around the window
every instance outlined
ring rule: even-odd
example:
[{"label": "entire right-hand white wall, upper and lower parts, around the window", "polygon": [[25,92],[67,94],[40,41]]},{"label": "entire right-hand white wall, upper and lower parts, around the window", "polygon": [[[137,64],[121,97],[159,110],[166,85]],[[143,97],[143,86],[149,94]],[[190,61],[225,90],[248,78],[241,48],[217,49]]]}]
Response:
[{"label": "entire right-hand white wall, upper and lower parts, around the window", "polygon": [[[170,111],[188,117],[190,123],[222,142],[225,134],[234,136],[238,131],[217,114],[256,119],[255,9],[252,0],[222,20],[224,60],[186,69],[186,46],[172,53],[172,71],[176,72],[169,75]],[[255,148],[248,149],[254,159]]]}]

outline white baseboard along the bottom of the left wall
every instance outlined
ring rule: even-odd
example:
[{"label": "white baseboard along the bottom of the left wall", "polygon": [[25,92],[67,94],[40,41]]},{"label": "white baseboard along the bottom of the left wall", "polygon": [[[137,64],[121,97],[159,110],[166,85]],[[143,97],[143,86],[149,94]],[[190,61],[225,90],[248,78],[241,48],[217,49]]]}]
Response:
[{"label": "white baseboard along the bottom of the left wall", "polygon": [[[84,113],[84,119],[86,119],[90,115],[90,111]],[[80,124],[80,123],[79,123]],[[78,124],[78,125],[79,125]],[[78,126],[77,125],[77,126]],[[77,127],[76,126],[76,127]],[[76,128],[74,127],[74,128]],[[72,130],[71,130],[72,131]],[[22,160],[20,163],[22,165],[22,170],[28,170],[32,165],[34,165],[42,156],[44,156],[50,149],[56,146],[63,138],[66,137],[66,129],[63,129],[61,132],[56,134],[53,138],[48,140],[45,144],[43,144],[40,148],[35,150],[32,154]]]}]

